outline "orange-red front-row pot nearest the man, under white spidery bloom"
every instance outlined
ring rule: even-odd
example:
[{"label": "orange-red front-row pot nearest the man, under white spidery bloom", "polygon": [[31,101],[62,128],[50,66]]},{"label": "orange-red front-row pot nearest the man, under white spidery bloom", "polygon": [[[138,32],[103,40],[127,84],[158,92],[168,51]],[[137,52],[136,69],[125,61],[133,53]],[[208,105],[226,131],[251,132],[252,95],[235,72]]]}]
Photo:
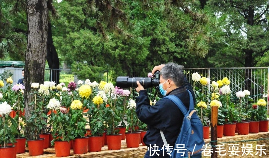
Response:
[{"label": "orange-red front-row pot nearest the man, under white spidery bloom", "polygon": [[133,133],[125,133],[125,137],[126,137],[126,146],[128,148],[131,147],[139,147],[140,144],[140,134],[141,132],[133,132]]}]

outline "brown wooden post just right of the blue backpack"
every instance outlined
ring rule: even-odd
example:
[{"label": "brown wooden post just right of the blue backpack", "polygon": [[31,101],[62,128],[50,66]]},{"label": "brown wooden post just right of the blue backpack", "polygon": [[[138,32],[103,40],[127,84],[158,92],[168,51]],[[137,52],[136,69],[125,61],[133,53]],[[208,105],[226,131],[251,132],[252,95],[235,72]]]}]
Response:
[{"label": "brown wooden post just right of the blue backpack", "polygon": [[211,158],[217,158],[218,157],[218,153],[216,153],[216,146],[217,145],[217,125],[218,125],[218,107],[217,106],[212,106],[211,107],[211,124],[210,124],[210,128],[211,128],[211,145],[212,145],[212,151],[213,153],[211,153]]}]

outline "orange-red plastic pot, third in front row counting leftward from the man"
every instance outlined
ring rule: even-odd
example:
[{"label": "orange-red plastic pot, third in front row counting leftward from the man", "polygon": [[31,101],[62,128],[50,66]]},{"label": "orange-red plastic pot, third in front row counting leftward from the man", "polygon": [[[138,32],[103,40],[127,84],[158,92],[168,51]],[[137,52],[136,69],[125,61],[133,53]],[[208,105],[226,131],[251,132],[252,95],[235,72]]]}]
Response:
[{"label": "orange-red plastic pot, third in front row counting leftward from the man", "polygon": [[102,150],[103,136],[89,136],[88,151],[100,152]]}]

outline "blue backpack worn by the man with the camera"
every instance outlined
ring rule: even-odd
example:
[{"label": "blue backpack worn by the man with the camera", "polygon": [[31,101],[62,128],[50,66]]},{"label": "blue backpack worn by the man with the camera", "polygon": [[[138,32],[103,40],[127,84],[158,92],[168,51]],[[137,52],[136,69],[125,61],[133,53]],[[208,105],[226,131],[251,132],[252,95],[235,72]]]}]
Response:
[{"label": "blue backpack worn by the man with the camera", "polygon": [[[168,95],[164,98],[172,100],[184,114],[183,123],[174,149],[170,153],[170,158],[201,158],[202,157],[202,148],[204,143],[203,138],[203,125],[201,119],[197,116],[196,110],[194,110],[193,97],[189,90],[190,97],[190,107],[189,111],[184,106],[182,101],[175,95]],[[167,142],[165,140],[163,132],[160,130],[162,140],[164,141],[165,146]],[[183,147],[183,145],[185,145]],[[169,150],[167,150],[169,153]]]}]

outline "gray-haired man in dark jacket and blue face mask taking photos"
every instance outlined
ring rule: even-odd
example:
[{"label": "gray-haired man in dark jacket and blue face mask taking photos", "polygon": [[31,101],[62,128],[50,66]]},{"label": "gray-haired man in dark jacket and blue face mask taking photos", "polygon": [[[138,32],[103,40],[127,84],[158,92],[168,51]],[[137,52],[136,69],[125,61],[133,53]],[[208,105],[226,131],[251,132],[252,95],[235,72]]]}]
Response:
[{"label": "gray-haired man in dark jacket and blue face mask taking photos", "polygon": [[[175,95],[183,102],[185,107],[189,109],[190,99],[187,90],[192,94],[193,104],[195,103],[195,95],[192,86],[183,74],[183,66],[176,63],[167,63],[155,66],[152,72],[154,73],[156,70],[160,71],[161,94],[163,96]],[[161,99],[157,101],[155,105],[151,106],[147,91],[142,87],[139,81],[136,83],[138,85],[136,91],[139,92],[136,98],[136,114],[148,127],[143,141],[148,147],[157,146],[157,150],[159,150],[156,151],[154,147],[153,149],[149,148],[144,158],[169,158],[170,156],[167,154],[167,151],[161,150],[164,142],[160,130],[163,131],[167,143],[173,146],[171,147],[173,149],[180,132],[184,115],[177,105],[168,98]]]}]

